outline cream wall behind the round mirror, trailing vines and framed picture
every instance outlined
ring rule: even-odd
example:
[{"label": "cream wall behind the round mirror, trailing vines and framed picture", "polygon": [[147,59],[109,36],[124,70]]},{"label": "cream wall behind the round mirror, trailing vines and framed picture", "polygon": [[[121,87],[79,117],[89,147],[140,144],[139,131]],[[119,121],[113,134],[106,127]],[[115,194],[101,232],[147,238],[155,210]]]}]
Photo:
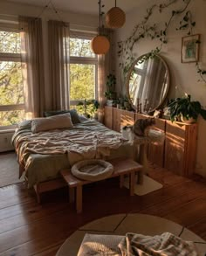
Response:
[{"label": "cream wall behind the round mirror, trailing vines and framed picture", "polygon": [[[117,41],[124,40],[130,36],[134,29],[135,24],[139,24],[142,18],[147,13],[147,8],[153,3],[165,3],[166,1],[152,1],[145,0],[141,2],[141,5],[127,14],[127,22],[123,28],[116,32]],[[161,27],[168,17],[171,15],[172,10],[179,9],[183,1],[176,1],[175,4],[171,5],[167,10],[163,10],[162,13],[159,10],[155,10],[151,17],[149,24],[157,24]],[[200,64],[203,69],[206,69],[206,1],[204,0],[191,0],[189,4],[189,10],[192,12],[192,17],[196,21],[196,27],[194,28],[193,34],[201,34],[200,44]],[[204,82],[198,82],[200,79],[196,73],[196,65],[194,63],[181,63],[181,50],[182,50],[182,37],[187,35],[187,31],[176,31],[176,27],[179,26],[181,18],[175,17],[168,30],[168,44],[162,47],[160,55],[166,60],[170,72],[171,83],[168,93],[168,98],[174,98],[176,96],[183,96],[183,92],[192,95],[192,100],[199,100],[201,104],[206,107],[206,85]],[[156,46],[160,45],[160,41],[155,39],[151,40],[143,38],[135,45],[134,54],[136,57],[141,54],[150,52]],[[119,92],[125,92],[125,85],[120,81],[120,68],[116,66],[116,74],[119,78],[117,85]],[[175,90],[175,86],[178,86],[178,90]],[[197,142],[197,154],[196,154],[196,172],[206,176],[206,157],[205,157],[205,146],[206,146],[206,121],[203,118],[198,120],[198,142]]]}]

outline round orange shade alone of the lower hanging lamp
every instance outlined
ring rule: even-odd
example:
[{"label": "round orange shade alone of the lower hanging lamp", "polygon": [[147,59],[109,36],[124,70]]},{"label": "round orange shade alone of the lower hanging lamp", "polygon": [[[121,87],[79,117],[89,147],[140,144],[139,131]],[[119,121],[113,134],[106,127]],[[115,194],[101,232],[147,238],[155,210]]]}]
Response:
[{"label": "round orange shade alone of the lower hanging lamp", "polygon": [[95,54],[106,54],[109,51],[109,40],[104,36],[96,36],[91,41],[91,48]]}]

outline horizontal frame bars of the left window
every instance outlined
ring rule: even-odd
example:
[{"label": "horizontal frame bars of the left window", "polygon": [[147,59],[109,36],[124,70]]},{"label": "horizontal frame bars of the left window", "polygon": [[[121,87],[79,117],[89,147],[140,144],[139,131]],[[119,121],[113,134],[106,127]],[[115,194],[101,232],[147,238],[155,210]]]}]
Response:
[{"label": "horizontal frame bars of the left window", "polygon": [[[0,31],[19,32],[17,24],[0,23]],[[20,33],[20,32],[19,32]],[[0,61],[22,62],[21,53],[0,52]],[[24,104],[0,105],[0,112],[24,110]],[[15,128],[17,125],[0,126],[0,130]]]}]

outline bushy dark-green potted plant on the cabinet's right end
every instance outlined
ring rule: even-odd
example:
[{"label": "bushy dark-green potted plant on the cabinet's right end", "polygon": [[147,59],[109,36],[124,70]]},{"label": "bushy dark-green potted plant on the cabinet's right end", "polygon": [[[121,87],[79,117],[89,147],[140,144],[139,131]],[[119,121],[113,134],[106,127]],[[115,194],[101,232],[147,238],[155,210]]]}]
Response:
[{"label": "bushy dark-green potted plant on the cabinet's right end", "polygon": [[199,114],[206,120],[206,110],[203,109],[199,101],[191,101],[191,95],[171,100],[168,107],[171,121],[181,118],[183,122],[192,123],[196,122]]}]

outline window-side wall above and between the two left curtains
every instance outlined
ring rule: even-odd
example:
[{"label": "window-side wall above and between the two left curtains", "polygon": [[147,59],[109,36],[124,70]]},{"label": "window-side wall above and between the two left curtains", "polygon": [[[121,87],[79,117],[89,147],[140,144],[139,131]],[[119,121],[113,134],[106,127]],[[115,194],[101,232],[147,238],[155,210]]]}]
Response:
[{"label": "window-side wall above and between the two left curtains", "polygon": [[[43,8],[34,7],[27,4],[8,3],[5,1],[0,2],[0,20],[17,20],[17,16],[38,17],[42,13]],[[44,60],[45,60],[45,105],[47,109],[50,109],[51,97],[49,88],[49,72],[48,72],[48,32],[47,21],[50,19],[59,20],[70,23],[72,29],[79,31],[96,31],[99,24],[99,17],[92,15],[76,14],[71,12],[58,11],[57,14],[50,8],[40,15],[43,23],[43,43],[44,43]]]}]

